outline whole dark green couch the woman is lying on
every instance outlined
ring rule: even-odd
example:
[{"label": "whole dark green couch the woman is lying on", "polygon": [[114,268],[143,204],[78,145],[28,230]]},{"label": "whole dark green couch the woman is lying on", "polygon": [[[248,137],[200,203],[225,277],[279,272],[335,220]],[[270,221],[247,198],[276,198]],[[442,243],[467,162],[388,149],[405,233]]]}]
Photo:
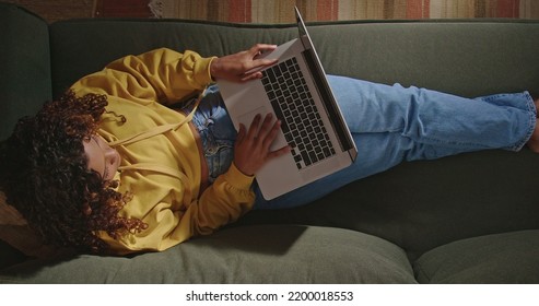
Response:
[{"label": "whole dark green couch the woman is lying on", "polygon": [[[308,26],[331,74],[465,96],[539,93],[539,21]],[[181,20],[48,25],[0,4],[0,139],[19,117],[125,55],[169,47],[221,56],[296,34],[293,24]],[[34,259],[2,243],[0,282],[539,283],[538,200],[539,156],[527,149],[461,154],[405,163],[305,207],[253,211],[157,254]]]}]

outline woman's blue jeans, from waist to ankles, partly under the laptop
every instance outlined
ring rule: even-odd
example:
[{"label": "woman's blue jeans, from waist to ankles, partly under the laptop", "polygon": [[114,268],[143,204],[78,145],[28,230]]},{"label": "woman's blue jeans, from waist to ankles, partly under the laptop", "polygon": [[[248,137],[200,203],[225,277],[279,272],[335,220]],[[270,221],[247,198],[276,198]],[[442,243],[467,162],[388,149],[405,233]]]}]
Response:
[{"label": "woman's blue jeans, from waist to ankles, partly under the laptop", "polygon": [[[527,92],[464,98],[343,76],[329,76],[329,82],[356,143],[358,160],[345,169],[271,201],[262,198],[255,184],[256,209],[303,205],[403,161],[434,160],[488,149],[518,151],[536,125],[534,99]],[[208,164],[210,172],[218,170],[211,173],[216,177],[232,163],[235,130],[215,86],[194,120],[206,122],[197,123],[202,138],[208,138],[203,142],[212,143],[208,148],[218,152],[207,153],[214,156],[208,158]],[[215,134],[204,136],[204,130]],[[216,140],[218,133],[224,139]]]}]

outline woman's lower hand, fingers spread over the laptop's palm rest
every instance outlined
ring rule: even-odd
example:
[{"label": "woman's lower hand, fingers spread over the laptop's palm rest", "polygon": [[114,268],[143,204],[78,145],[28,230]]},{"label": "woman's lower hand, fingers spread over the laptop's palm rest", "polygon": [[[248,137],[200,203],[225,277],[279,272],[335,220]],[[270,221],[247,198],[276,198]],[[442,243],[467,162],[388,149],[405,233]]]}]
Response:
[{"label": "woman's lower hand, fingers spread over the laptop's palm rest", "polygon": [[270,151],[271,143],[276,140],[281,121],[273,122],[271,114],[266,115],[261,122],[261,116],[257,115],[246,131],[244,125],[239,125],[236,144],[234,148],[234,164],[245,175],[255,175],[268,161],[290,152],[290,146],[283,146]]}]

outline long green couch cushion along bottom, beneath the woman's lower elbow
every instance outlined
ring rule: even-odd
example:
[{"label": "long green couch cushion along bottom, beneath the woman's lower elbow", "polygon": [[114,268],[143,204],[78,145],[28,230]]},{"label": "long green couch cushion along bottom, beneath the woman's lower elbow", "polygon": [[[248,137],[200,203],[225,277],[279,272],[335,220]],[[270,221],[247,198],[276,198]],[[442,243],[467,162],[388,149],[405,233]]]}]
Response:
[{"label": "long green couch cushion along bottom, beneath the woman's lower elbow", "polygon": [[414,283],[405,251],[366,234],[314,226],[224,229],[133,258],[78,256],[0,273],[14,283]]}]

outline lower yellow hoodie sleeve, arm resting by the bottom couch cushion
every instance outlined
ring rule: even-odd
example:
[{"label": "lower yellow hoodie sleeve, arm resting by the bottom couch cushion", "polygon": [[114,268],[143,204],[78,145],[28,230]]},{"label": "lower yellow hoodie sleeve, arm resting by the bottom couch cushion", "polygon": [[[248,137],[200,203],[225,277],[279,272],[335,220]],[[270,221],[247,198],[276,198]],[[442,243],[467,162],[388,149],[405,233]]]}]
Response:
[{"label": "lower yellow hoodie sleeve, arm resting by the bottom couch cushion", "polygon": [[[126,208],[131,213],[133,210],[141,210],[139,214],[144,215],[142,220],[149,227],[141,233],[127,234],[117,239],[106,233],[101,233],[101,237],[114,252],[125,255],[141,250],[161,251],[194,236],[211,234],[253,208],[253,180],[254,177],[245,176],[233,164],[229,172],[218,177],[199,199],[194,199],[185,209],[173,209],[171,202],[164,199],[151,208],[147,207],[147,210],[144,205],[133,207],[129,203]],[[148,199],[157,196],[155,193],[141,196]]]}]

